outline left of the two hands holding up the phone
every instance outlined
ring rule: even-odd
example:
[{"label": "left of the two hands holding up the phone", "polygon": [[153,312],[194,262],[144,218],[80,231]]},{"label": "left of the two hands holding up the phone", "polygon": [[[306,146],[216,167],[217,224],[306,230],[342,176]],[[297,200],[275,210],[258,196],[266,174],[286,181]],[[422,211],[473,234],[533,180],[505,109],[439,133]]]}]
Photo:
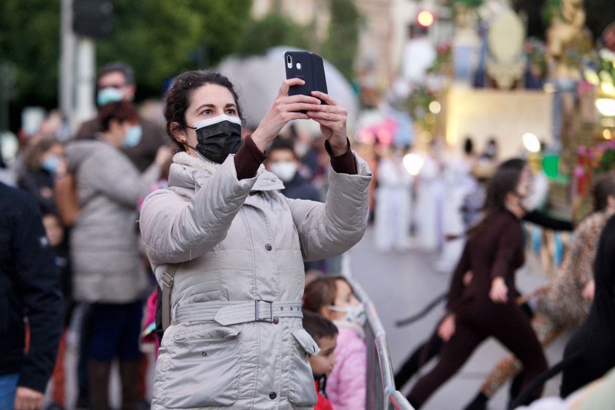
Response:
[{"label": "left of the two hands holding up the phone", "polygon": [[301,86],[305,84],[300,78],[291,78],[282,82],[276,100],[264,116],[258,128],[252,134],[252,140],[256,147],[261,151],[269,141],[276,138],[282,127],[292,119],[309,119],[309,116],[299,111],[317,111],[320,107],[320,100],[308,95],[288,95],[291,86]]}]

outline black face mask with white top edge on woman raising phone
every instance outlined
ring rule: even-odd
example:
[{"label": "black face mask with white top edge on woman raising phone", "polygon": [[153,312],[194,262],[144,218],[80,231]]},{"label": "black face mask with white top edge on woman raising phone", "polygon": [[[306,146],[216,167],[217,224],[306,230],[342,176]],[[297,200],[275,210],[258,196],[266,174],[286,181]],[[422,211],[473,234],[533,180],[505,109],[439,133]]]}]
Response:
[{"label": "black face mask with white top edge on woman raising phone", "polygon": [[241,125],[237,117],[220,115],[194,124],[199,143],[191,147],[200,155],[221,164],[229,154],[234,154],[241,147]]}]

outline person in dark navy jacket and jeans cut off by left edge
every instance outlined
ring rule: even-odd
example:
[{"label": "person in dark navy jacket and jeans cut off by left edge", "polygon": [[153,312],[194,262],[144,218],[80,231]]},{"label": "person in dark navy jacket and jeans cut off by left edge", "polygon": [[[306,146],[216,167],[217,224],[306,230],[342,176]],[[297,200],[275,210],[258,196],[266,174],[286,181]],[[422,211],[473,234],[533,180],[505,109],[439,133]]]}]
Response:
[{"label": "person in dark navy jacket and jeans cut off by left edge", "polygon": [[[62,303],[38,204],[0,183],[1,409],[41,407],[62,332]],[[26,319],[30,337],[25,352]]]}]

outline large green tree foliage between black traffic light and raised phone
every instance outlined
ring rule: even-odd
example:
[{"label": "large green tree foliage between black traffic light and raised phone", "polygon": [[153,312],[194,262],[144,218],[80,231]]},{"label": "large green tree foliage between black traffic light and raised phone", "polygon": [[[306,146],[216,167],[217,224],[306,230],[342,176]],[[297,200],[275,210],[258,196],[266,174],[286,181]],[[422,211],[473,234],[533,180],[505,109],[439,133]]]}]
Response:
[{"label": "large green tree foliage between black traffic light and raised phone", "polygon": [[97,42],[98,65],[135,68],[140,96],[159,95],[165,79],[206,68],[236,52],[251,0],[114,0],[113,33]]}]

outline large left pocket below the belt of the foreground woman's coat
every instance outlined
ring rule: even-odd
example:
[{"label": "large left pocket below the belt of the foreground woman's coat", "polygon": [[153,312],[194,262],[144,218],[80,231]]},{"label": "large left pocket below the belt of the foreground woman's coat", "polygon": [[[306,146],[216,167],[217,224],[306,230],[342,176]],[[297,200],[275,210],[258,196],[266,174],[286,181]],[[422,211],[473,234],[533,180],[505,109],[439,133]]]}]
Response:
[{"label": "large left pocket below the belt of the foreground woman's coat", "polygon": [[[170,336],[170,335],[169,335]],[[197,329],[173,336],[167,347],[160,399],[166,408],[230,406],[239,393],[241,333]]]}]

